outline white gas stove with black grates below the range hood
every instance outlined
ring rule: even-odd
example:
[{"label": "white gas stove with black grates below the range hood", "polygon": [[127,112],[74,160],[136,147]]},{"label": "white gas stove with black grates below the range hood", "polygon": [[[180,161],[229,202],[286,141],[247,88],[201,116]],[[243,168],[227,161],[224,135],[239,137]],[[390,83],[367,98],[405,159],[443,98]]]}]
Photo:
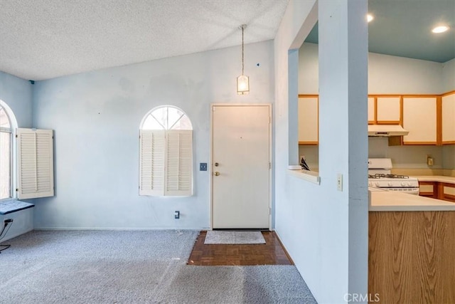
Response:
[{"label": "white gas stove with black grates below the range hood", "polygon": [[419,195],[419,181],[415,177],[391,174],[392,159],[368,159],[368,187]]}]

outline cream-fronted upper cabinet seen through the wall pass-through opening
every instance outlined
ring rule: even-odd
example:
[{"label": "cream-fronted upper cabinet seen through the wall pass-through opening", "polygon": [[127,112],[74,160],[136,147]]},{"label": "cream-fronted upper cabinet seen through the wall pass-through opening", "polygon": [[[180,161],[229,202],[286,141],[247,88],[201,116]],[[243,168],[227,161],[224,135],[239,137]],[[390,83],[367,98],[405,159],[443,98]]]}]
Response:
[{"label": "cream-fronted upper cabinet seen through the wall pass-through opening", "polygon": [[299,96],[299,145],[318,145],[319,105],[318,97]]}]

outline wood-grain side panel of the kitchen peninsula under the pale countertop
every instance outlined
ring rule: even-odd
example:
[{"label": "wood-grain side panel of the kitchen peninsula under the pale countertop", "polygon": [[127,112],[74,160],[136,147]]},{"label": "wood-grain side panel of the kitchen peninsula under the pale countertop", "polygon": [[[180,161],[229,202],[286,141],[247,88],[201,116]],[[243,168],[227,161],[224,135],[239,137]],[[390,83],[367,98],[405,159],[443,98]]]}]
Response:
[{"label": "wood-grain side panel of the kitchen peninsula under the pale countertop", "polygon": [[455,303],[455,211],[370,211],[368,219],[368,293],[377,303]]}]

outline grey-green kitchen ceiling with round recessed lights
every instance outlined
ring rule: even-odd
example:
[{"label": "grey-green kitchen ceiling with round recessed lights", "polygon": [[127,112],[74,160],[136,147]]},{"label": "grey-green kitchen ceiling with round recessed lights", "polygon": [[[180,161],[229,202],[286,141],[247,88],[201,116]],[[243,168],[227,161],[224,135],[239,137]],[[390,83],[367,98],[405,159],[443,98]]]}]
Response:
[{"label": "grey-green kitchen ceiling with round recessed lights", "polygon": [[[455,58],[455,0],[369,0],[368,49],[373,53],[444,63]],[[434,34],[439,24],[450,26]],[[318,28],[306,39],[318,42]]]}]

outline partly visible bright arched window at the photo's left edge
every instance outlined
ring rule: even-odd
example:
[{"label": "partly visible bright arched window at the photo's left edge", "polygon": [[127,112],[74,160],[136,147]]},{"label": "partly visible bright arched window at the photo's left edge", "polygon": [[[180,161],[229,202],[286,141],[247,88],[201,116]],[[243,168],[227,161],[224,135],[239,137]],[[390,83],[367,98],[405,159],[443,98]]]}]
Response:
[{"label": "partly visible bright arched window at the photo's left edge", "polygon": [[0,199],[11,197],[13,129],[8,113],[0,103]]}]

